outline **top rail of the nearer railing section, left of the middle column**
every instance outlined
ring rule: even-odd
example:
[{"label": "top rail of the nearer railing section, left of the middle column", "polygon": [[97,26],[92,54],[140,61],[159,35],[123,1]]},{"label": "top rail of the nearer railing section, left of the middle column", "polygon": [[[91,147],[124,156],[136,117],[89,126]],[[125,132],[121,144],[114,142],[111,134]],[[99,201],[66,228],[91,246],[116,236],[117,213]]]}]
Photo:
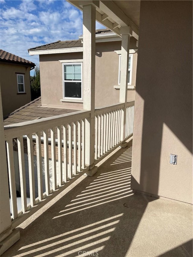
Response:
[{"label": "top rail of the nearer railing section, left of the middle column", "polygon": [[5,125],[5,140],[50,129],[51,127],[62,126],[64,124],[88,118],[89,116],[90,111],[75,111],[48,118],[41,118],[40,120],[24,121],[20,123]]}]

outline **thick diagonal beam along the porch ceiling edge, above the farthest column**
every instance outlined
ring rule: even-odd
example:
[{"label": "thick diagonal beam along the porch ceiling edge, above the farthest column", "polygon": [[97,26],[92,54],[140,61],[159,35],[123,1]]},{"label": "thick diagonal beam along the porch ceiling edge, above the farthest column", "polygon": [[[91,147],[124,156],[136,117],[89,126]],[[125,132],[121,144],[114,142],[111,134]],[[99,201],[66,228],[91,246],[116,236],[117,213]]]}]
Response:
[{"label": "thick diagonal beam along the porch ceiling edge, above the farthest column", "polygon": [[127,17],[124,12],[110,0],[100,1],[100,9],[109,15],[121,27],[129,26],[133,30],[132,36],[138,40],[139,28]]}]

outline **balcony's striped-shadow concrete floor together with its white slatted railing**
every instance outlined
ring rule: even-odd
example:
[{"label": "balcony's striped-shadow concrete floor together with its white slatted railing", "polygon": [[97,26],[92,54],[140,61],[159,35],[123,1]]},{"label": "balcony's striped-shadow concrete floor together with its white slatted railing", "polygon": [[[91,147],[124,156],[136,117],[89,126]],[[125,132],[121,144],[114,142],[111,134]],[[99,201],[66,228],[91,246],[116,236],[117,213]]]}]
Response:
[{"label": "balcony's striped-shadow concrete floor together with its white slatted railing", "polygon": [[84,176],[89,111],[5,126],[12,229],[20,240],[2,256],[191,256],[190,205],[131,189],[134,102],[127,103],[127,146],[120,148],[123,108],[95,110],[92,177]]}]

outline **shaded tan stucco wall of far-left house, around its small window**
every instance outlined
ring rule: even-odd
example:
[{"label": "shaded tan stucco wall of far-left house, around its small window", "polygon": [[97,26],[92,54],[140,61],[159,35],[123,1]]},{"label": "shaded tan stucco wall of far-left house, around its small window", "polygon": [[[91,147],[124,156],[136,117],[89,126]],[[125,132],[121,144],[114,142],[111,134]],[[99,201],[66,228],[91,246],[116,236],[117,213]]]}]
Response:
[{"label": "shaded tan stucco wall of far-left house, around its small window", "polygon": [[[17,74],[24,73],[26,94],[17,94]],[[2,93],[3,116],[31,101],[30,67],[0,63],[0,85]]]}]

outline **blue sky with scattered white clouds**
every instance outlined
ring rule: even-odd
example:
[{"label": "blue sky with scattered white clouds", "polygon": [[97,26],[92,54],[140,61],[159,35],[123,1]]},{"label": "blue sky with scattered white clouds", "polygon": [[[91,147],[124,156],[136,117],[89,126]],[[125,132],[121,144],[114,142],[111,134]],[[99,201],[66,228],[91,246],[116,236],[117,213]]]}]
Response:
[{"label": "blue sky with scattered white clouds", "polygon": [[[96,22],[96,29],[104,28]],[[29,48],[82,35],[82,11],[65,0],[0,0],[0,48],[39,64]],[[33,71],[31,73],[33,75]]]}]

